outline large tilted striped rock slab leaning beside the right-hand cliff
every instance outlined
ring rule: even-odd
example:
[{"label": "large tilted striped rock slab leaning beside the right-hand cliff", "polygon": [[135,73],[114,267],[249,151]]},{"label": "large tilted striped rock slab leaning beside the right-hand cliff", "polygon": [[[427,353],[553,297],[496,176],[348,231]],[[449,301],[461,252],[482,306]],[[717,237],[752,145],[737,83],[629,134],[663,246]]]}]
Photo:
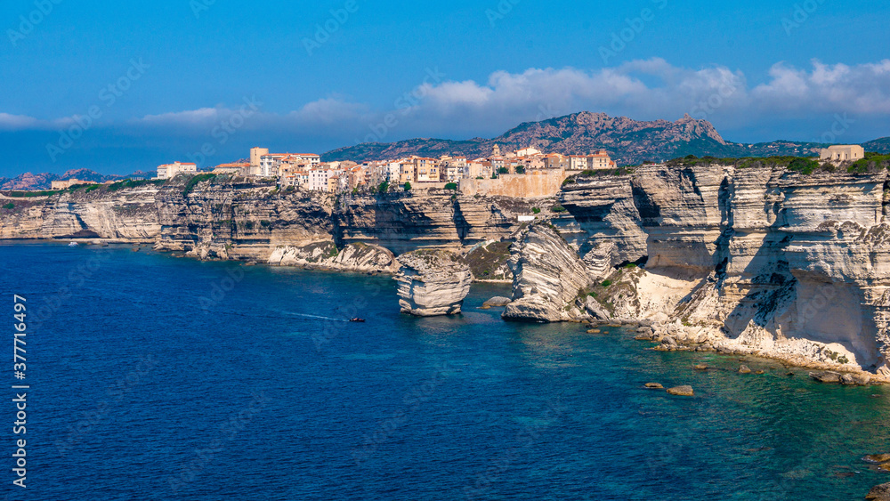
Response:
[{"label": "large tilted striped rock slab leaning beside the right-hand cliff", "polygon": [[510,247],[513,303],[503,317],[559,322],[576,318],[578,293],[587,287],[587,271],[565,239],[553,228],[534,224]]}]

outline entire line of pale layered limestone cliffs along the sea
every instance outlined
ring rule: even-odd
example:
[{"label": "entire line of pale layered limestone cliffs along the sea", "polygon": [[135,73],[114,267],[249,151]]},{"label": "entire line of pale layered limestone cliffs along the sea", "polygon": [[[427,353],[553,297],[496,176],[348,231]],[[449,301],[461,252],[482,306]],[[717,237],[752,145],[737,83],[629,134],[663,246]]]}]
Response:
[{"label": "entire line of pale layered limestone cliffs along the sea", "polygon": [[[505,319],[645,321],[651,334],[640,335],[659,350],[890,378],[886,171],[650,166],[570,178],[556,198],[541,199],[443,190],[335,197],[216,179],[13,206],[0,212],[0,239],[101,238],[198,259],[403,279],[402,255],[448,251],[459,278],[442,283],[463,284],[467,273],[512,281]],[[529,214],[534,222],[519,221]]]}]

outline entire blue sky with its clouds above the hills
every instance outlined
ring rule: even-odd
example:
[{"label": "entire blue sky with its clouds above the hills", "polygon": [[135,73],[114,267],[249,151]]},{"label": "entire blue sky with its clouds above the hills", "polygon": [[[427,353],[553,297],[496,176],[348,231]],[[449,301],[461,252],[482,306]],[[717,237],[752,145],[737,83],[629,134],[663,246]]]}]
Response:
[{"label": "entire blue sky with its clouds above the hills", "polygon": [[580,110],[690,113],[730,141],[890,135],[878,0],[8,0],[3,12],[0,176],[493,137]]}]

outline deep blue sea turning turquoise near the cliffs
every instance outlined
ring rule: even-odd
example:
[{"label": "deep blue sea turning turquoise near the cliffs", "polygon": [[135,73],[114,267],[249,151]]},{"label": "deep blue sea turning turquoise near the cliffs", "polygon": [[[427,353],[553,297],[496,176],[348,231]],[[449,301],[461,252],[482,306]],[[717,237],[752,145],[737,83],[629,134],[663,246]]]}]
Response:
[{"label": "deep blue sea turning turquoise near the cliffs", "polygon": [[503,286],[414,319],[385,277],[47,244],[0,263],[0,313],[23,295],[30,324],[28,489],[12,389],[0,407],[8,499],[861,499],[890,481],[861,460],[890,452],[885,388],[506,323],[478,308]]}]

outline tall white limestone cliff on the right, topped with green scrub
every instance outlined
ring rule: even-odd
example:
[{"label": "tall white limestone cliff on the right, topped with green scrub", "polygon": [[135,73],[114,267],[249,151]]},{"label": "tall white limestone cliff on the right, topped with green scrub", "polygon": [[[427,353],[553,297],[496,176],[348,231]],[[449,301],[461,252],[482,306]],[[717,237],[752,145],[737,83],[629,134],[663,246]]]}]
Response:
[{"label": "tall white limestone cliff on the right, topped with green scrub", "polygon": [[887,181],[886,173],[651,167],[567,187],[564,227],[586,261],[603,241],[619,247],[616,262],[648,258],[644,271],[616,271],[595,292],[613,317],[656,320],[667,349],[890,376]]}]

